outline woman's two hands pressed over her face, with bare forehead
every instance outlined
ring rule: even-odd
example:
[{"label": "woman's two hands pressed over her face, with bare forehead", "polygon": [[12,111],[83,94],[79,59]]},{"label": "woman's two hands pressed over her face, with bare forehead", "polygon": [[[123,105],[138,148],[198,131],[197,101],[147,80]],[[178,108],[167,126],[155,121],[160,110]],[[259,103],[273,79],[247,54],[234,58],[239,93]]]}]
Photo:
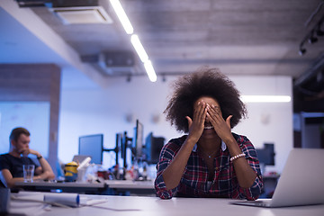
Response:
[{"label": "woman's two hands pressed over her face, with bare forehead", "polygon": [[195,103],[193,120],[189,116],[186,116],[189,125],[189,136],[198,141],[202,136],[205,121],[209,121],[220,139],[225,140],[231,136],[230,119],[232,115],[229,115],[226,121],[224,121],[218,103],[211,98],[207,99],[209,99],[208,103],[204,100],[199,100],[198,103]]}]

